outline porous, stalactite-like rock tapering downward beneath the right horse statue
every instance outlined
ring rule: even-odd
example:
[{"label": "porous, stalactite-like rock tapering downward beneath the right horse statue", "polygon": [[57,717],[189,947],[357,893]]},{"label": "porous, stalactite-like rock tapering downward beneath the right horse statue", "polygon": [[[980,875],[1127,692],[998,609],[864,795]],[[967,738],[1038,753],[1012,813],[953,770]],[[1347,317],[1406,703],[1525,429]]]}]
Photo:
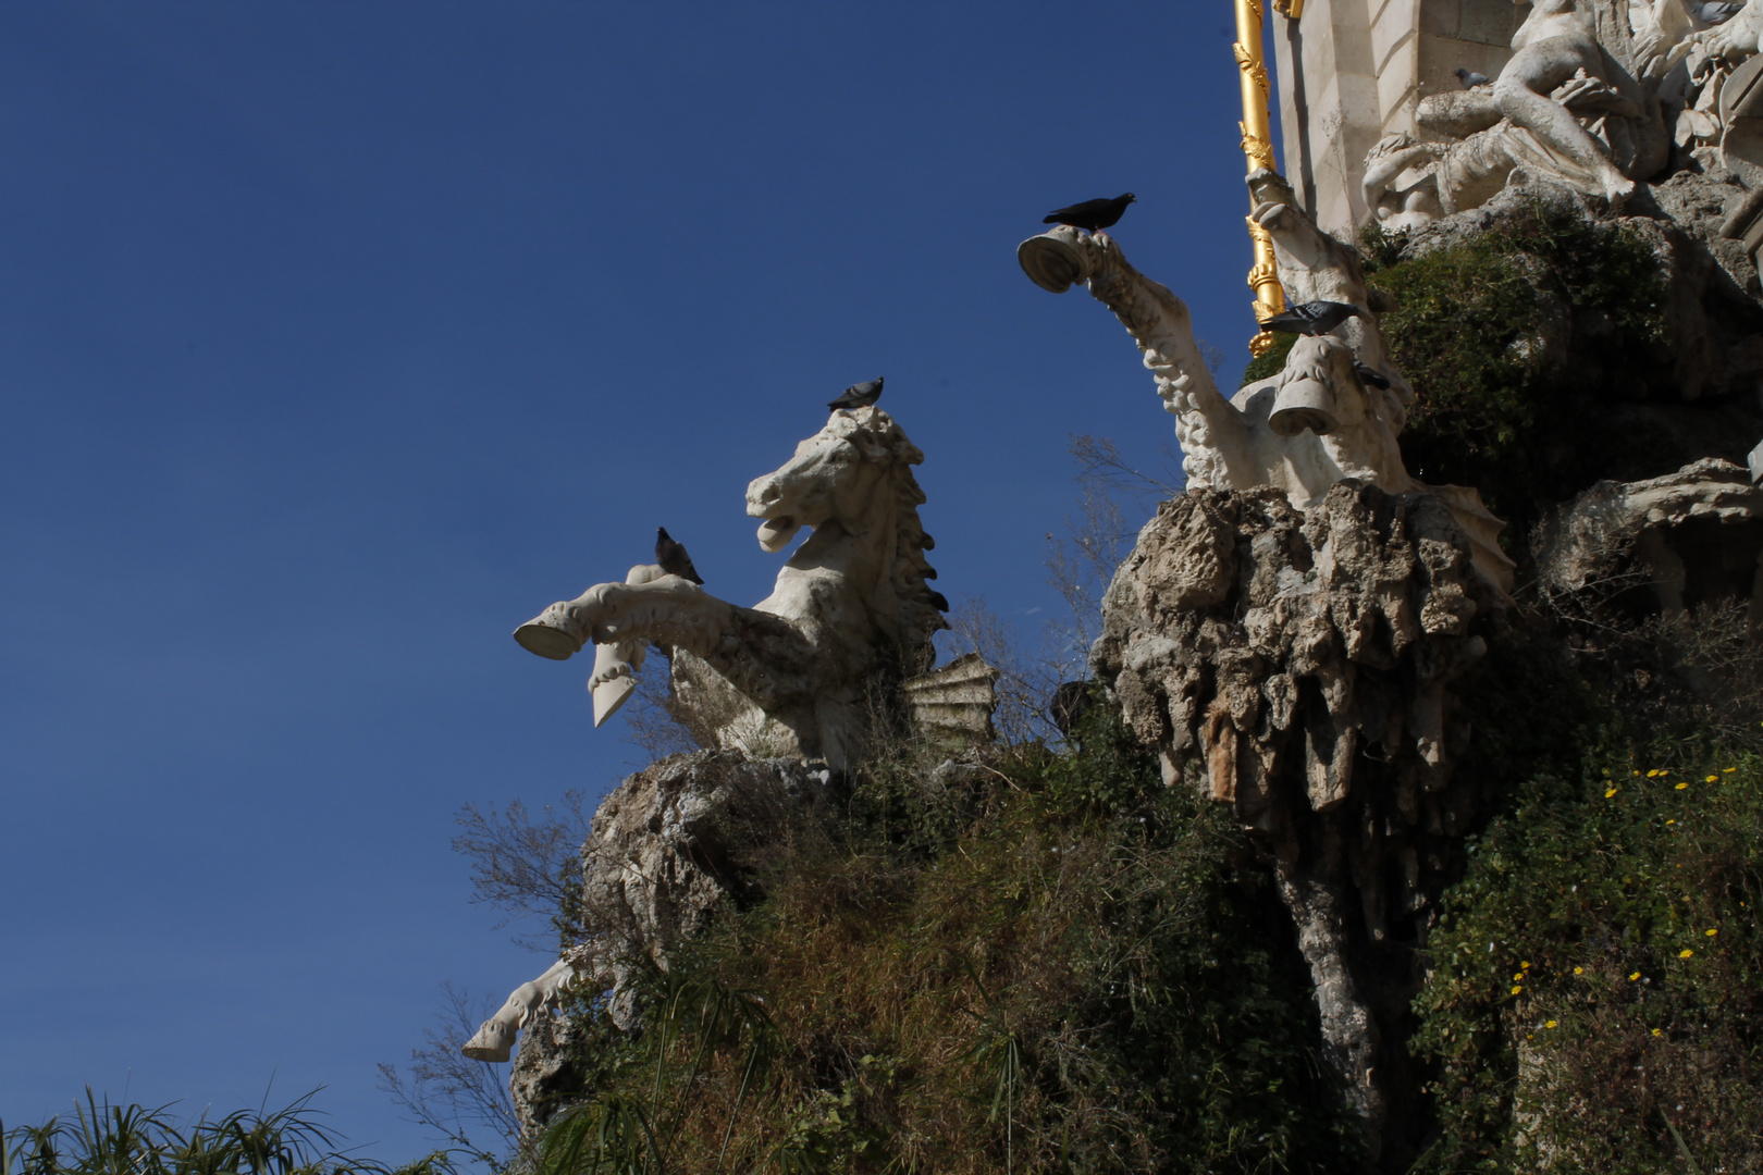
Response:
[{"label": "porous, stalactite-like rock tapering downward beneath the right horse statue", "polygon": [[1271,488],[1164,502],[1104,599],[1091,666],[1165,782],[1231,803],[1273,863],[1373,1149],[1409,1083],[1386,1080],[1403,1060],[1366,953],[1419,941],[1474,812],[1449,684],[1502,599],[1446,502],[1358,481],[1308,511]]}]

